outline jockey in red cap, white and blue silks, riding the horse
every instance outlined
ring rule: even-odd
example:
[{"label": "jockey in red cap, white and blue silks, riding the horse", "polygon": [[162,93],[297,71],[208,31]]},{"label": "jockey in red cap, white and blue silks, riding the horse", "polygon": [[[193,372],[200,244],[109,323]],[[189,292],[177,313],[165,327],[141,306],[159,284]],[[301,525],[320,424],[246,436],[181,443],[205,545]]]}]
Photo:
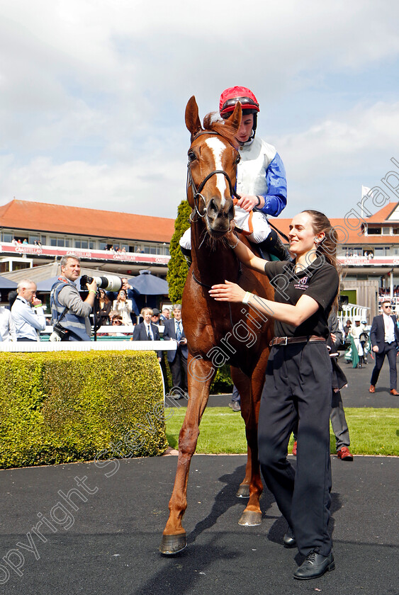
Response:
[{"label": "jockey in red cap, white and blue silks, riding the horse", "polygon": [[[265,216],[277,217],[286,207],[286,171],[276,149],[255,137],[259,103],[250,89],[243,86],[225,89],[219,101],[221,117],[229,118],[237,101],[242,106],[242,120],[237,132],[240,163],[237,165],[236,186],[241,198],[235,203],[235,227],[250,242],[258,244],[261,254],[267,252],[286,260],[290,258],[288,251]],[[191,256],[191,229],[187,229],[181,237],[180,246],[184,256]]]}]

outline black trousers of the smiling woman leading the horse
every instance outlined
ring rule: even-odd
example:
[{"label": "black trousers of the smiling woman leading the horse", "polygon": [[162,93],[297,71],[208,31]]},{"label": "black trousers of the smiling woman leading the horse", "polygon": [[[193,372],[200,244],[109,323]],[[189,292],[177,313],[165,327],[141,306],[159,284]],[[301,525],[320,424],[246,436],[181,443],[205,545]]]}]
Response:
[{"label": "black trousers of the smiling woman leading the horse", "polygon": [[[266,368],[259,410],[262,474],[300,554],[328,555],[330,519],[330,356],[325,343],[274,346]],[[298,424],[296,470],[287,459]]]}]

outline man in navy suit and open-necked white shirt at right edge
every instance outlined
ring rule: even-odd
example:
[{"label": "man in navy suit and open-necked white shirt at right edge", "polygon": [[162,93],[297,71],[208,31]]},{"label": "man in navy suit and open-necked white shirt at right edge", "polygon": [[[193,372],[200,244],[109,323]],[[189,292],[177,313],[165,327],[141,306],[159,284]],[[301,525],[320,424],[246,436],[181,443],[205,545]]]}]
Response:
[{"label": "man in navy suit and open-necked white shirt at right edge", "polygon": [[370,340],[375,353],[376,365],[371,374],[369,392],[376,391],[376,383],[380,370],[383,367],[385,356],[389,362],[390,394],[398,396],[396,390],[396,357],[398,356],[399,329],[396,324],[396,317],[391,314],[390,300],[382,303],[383,313],[373,318],[370,330]]}]

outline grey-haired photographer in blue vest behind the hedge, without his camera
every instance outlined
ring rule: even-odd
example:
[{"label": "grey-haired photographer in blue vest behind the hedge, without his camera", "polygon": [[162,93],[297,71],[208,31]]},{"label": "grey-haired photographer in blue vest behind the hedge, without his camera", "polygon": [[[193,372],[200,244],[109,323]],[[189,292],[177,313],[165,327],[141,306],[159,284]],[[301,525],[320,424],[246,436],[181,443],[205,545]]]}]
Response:
[{"label": "grey-haired photographer in blue vest behind the hedge, without his camera", "polygon": [[[80,276],[80,259],[65,254],[61,259],[61,276],[52,285],[50,305],[55,334],[61,339],[55,341],[90,341],[91,324],[89,314],[94,306],[97,283],[86,283],[89,294],[82,300],[75,282]],[[61,328],[60,328],[61,327]]]}]

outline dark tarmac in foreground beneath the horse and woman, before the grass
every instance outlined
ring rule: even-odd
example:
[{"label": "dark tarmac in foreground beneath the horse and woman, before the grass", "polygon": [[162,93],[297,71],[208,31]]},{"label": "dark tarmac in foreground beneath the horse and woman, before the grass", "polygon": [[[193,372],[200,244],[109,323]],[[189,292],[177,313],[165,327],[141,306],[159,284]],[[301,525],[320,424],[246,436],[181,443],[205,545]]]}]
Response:
[{"label": "dark tarmac in foreground beneath the horse and woman, before the grass", "polygon": [[193,457],[188,547],[174,557],[158,548],[176,457],[2,470],[1,593],[399,594],[399,458],[332,457],[336,568],[311,581],[293,579],[302,558],[281,545],[286,522],[267,489],[262,525],[237,524],[244,470],[242,455]]}]

